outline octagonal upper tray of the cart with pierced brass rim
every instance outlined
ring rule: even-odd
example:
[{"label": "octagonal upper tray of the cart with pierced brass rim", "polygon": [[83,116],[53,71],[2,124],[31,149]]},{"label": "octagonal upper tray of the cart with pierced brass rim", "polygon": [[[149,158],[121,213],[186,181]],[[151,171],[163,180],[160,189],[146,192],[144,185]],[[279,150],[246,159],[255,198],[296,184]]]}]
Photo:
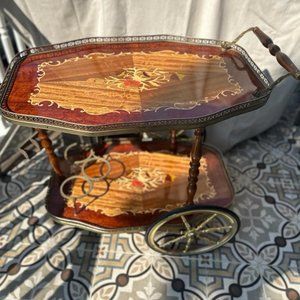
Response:
[{"label": "octagonal upper tray of the cart with pierced brass rim", "polygon": [[89,38],[19,53],[5,118],[82,135],[204,126],[263,105],[270,83],[240,46],[179,36]]}]

